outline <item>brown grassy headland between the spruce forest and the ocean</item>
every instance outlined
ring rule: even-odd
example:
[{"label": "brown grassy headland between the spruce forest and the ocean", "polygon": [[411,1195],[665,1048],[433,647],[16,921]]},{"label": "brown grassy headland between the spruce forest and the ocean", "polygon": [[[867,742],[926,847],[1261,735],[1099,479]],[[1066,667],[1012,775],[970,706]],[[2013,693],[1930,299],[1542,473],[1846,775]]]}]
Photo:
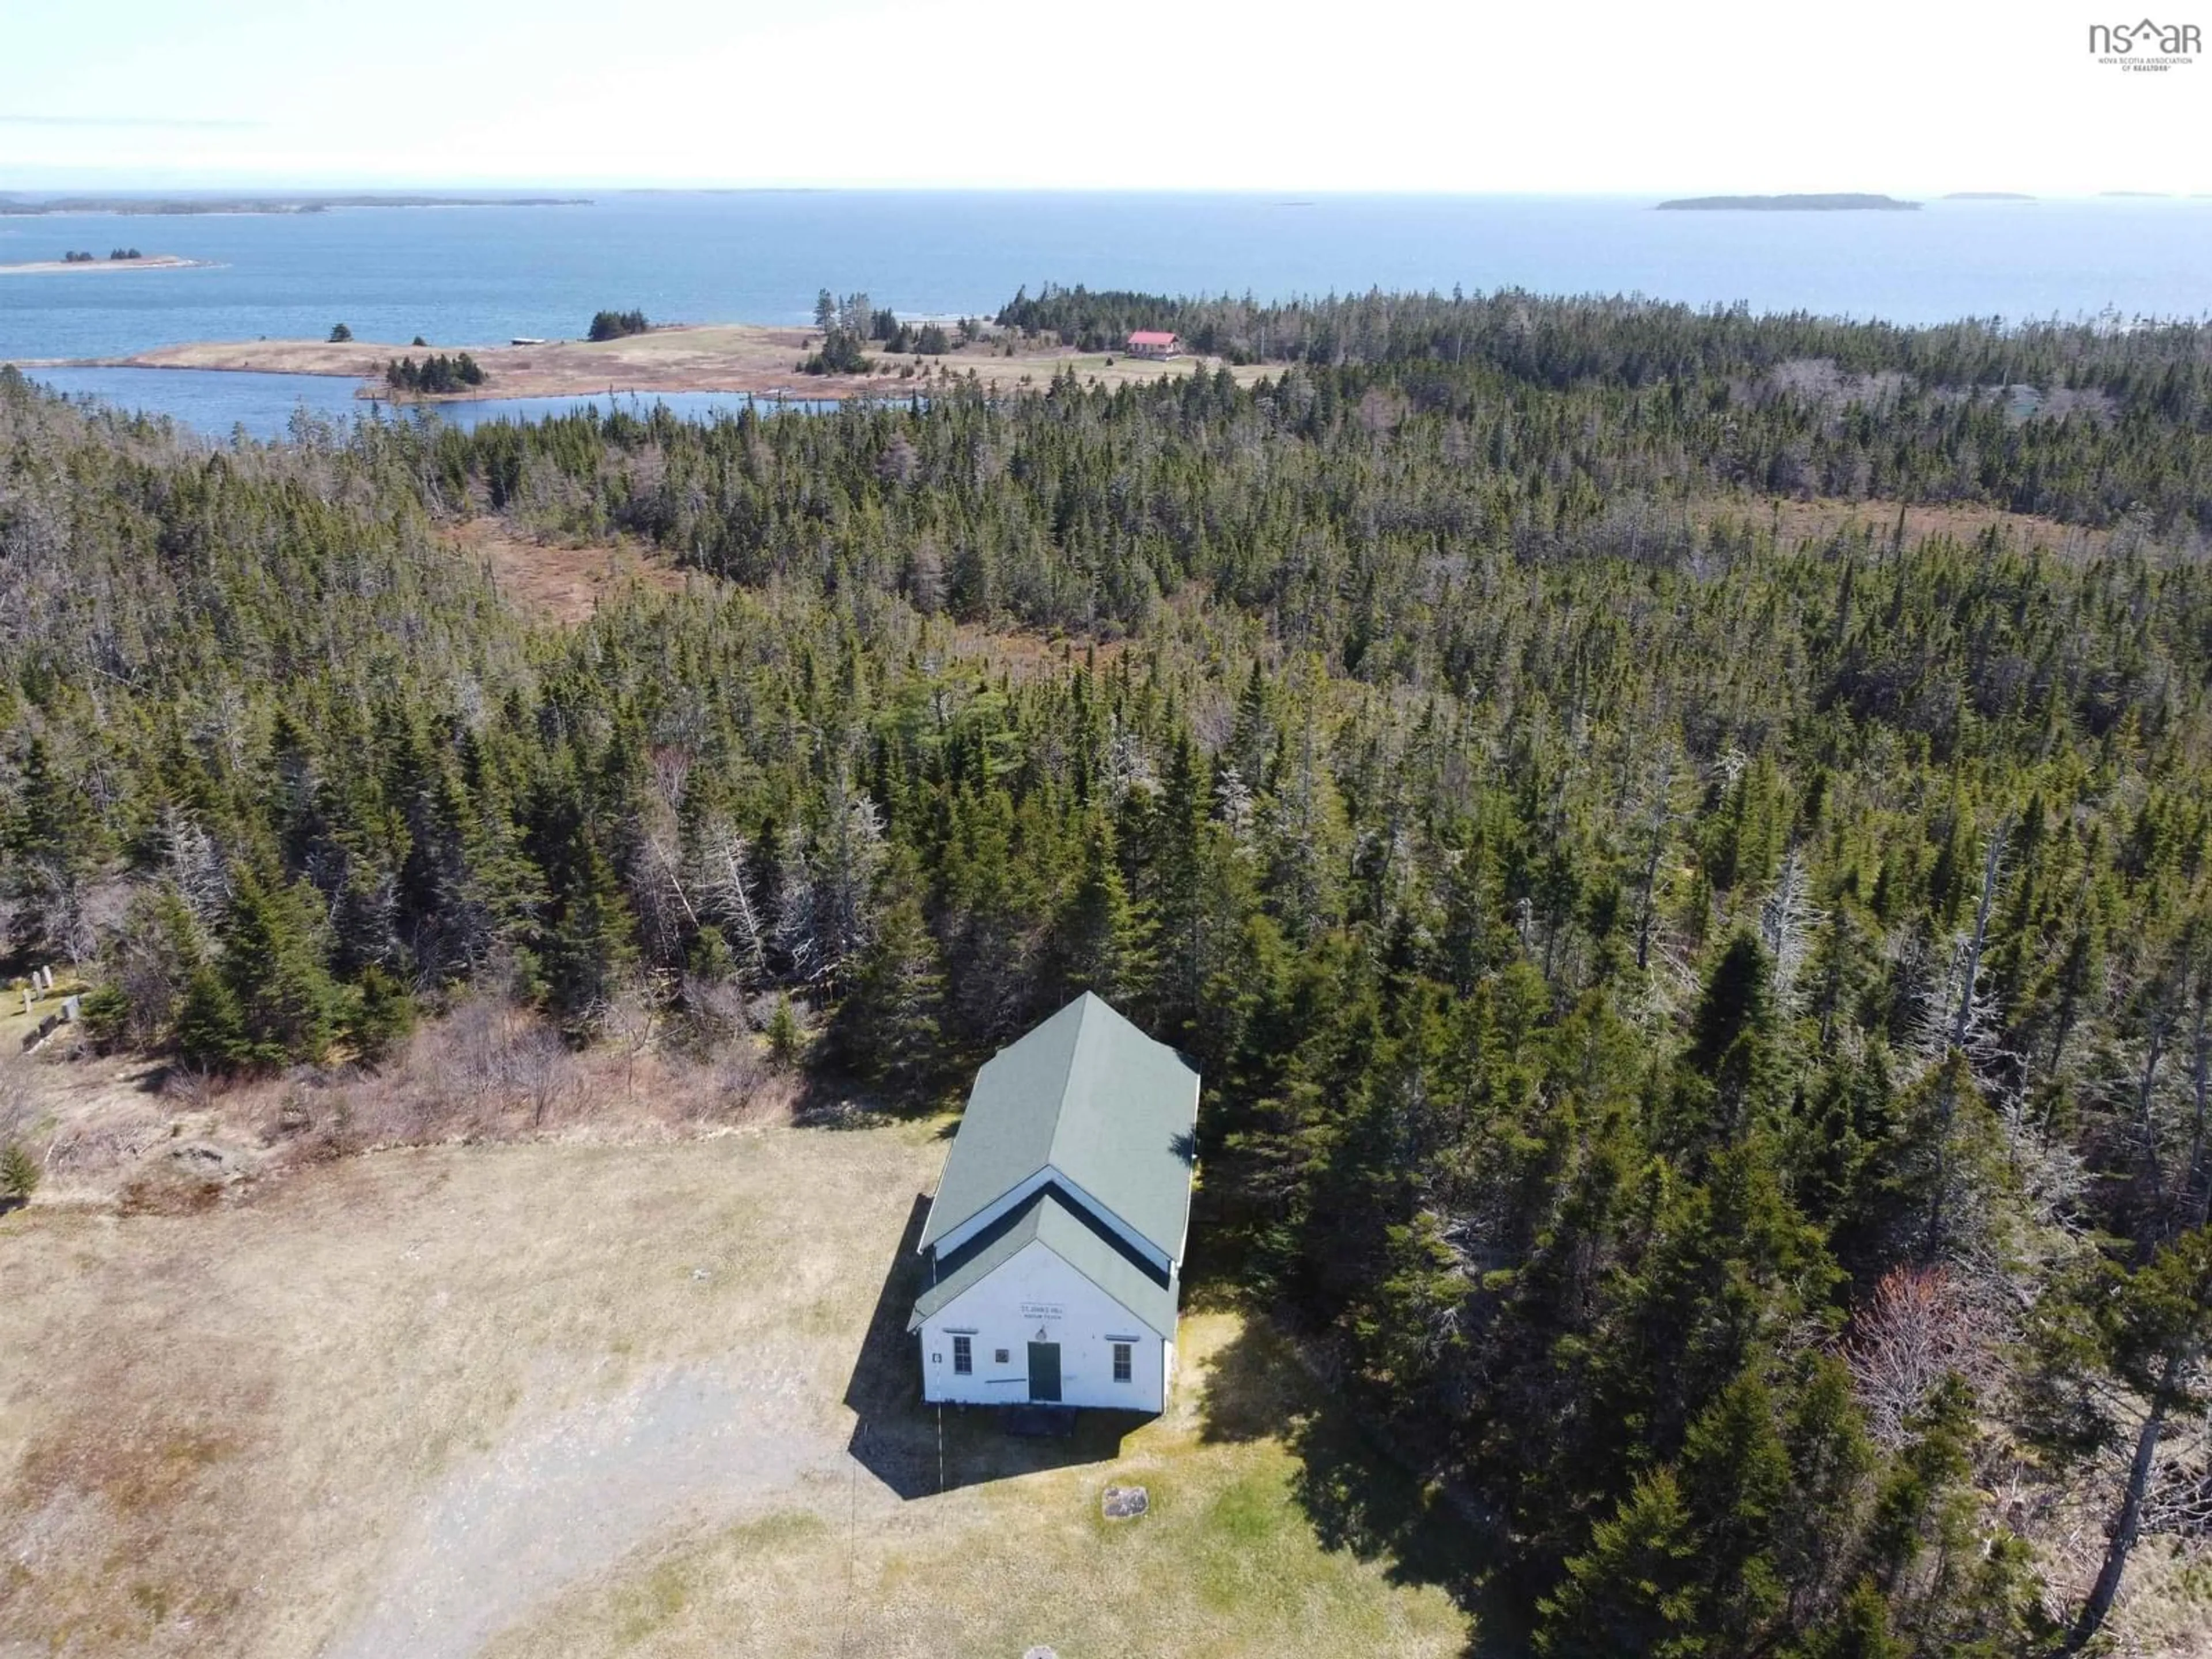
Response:
[{"label": "brown grassy headland between the spruce forest and the ocean", "polygon": [[[1082,354],[1029,345],[1002,356],[998,345],[973,345],[936,358],[874,354],[872,374],[799,374],[799,361],[821,336],[799,327],[757,323],[701,323],[657,327],[624,341],[549,341],[544,345],[469,345],[438,341],[431,347],[389,341],[204,341],[164,345],[102,365],[142,369],[259,369],[263,374],[330,374],[358,378],[363,396],[383,394],[385,365],[396,356],[467,349],[484,367],[484,385],[465,398],[584,396],[593,392],[752,392],[759,396],[849,398],[856,394],[898,396],[927,392],[947,378],[973,378],[993,392],[1042,387],[1073,367],[1084,380],[1124,385],[1208,372],[1210,358],[1150,363],[1130,356]],[[1237,378],[1256,380],[1267,369],[1239,367]]]}]

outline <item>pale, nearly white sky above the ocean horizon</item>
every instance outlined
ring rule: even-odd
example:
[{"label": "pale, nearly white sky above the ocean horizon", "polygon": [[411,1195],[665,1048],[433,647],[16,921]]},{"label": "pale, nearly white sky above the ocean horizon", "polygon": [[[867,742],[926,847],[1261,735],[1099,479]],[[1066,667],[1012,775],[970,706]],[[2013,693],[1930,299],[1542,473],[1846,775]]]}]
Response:
[{"label": "pale, nearly white sky above the ocean horizon", "polygon": [[0,0],[0,188],[2212,190],[2212,58],[2108,11]]}]

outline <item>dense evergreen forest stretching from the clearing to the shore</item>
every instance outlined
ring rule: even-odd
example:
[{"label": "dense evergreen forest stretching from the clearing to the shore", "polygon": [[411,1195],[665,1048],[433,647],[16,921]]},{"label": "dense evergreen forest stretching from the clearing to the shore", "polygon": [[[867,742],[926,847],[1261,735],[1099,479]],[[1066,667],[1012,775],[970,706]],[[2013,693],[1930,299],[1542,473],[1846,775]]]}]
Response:
[{"label": "dense evergreen forest stretching from the clearing to the shore", "polygon": [[1480,1544],[1301,1480],[1506,1650],[2201,1617],[2212,334],[1000,321],[1265,369],[283,445],[0,372],[13,969],[314,1157],[478,1124],[314,1106],[465,1009],[920,1110],[1095,989],[1208,1294]]}]

